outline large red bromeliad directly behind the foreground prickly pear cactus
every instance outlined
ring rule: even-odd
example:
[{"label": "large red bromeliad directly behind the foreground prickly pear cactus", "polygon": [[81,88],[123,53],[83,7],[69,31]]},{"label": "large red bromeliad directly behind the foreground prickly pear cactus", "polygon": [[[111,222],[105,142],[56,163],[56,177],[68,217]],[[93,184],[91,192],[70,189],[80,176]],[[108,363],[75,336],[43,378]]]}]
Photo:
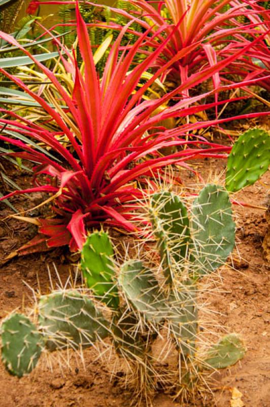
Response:
[{"label": "large red bromeliad directly behind the foreground prickly pear cactus", "polygon": [[[133,57],[150,30],[146,31],[132,47],[123,50],[120,42],[127,29],[128,26],[123,28],[113,44],[104,75],[99,79],[87,27],[77,7],[78,41],[84,73],[78,69],[74,52],[70,53],[62,47],[60,55],[66,72],[74,80],[72,95],[52,71],[23,49],[13,37],[0,33],[1,38],[18,46],[32,59],[58,93],[58,101],[52,106],[39,94],[32,92],[19,78],[0,69],[2,74],[46,111],[51,123],[51,127],[46,123],[45,125],[33,123],[14,111],[1,109],[0,123],[3,124],[3,128],[0,139],[13,144],[19,150],[10,155],[36,163],[33,188],[14,191],[5,198],[26,192],[44,192],[51,194],[48,200],[53,202],[53,217],[37,220],[40,233],[21,252],[33,251],[33,245],[39,247],[38,245],[45,242],[48,247],[69,244],[71,250],[76,251],[82,248],[86,229],[100,222],[129,231],[134,230],[136,226],[130,221],[132,214],[129,202],[143,194],[142,190],[137,188],[136,182],[144,183],[147,177],[157,175],[158,170],[165,165],[178,163],[187,166],[185,161],[191,158],[226,157],[230,150],[230,147],[211,143],[203,137],[192,136],[192,133],[189,140],[186,139],[187,131],[192,132],[194,129],[229,119],[187,124],[172,130],[157,126],[163,119],[185,117],[187,114],[215,106],[216,103],[192,106],[192,103],[205,98],[210,92],[193,98],[183,97],[174,106],[160,113],[155,114],[155,111],[176,94],[186,92],[223,69],[237,57],[237,53],[236,56],[229,56],[215,67],[207,67],[191,75],[176,90],[162,98],[143,100],[143,95],[154,80],[171,64],[182,58],[187,49],[194,50],[196,44],[191,44],[184,51],[177,53],[172,61],[161,67],[139,87],[142,74],[158,58],[171,38],[169,36],[142,64],[130,71]],[[58,40],[55,41],[61,47]],[[68,59],[64,59],[63,53]],[[243,82],[242,85],[253,82],[254,80]],[[232,84],[229,88],[233,86],[235,85]],[[226,101],[219,103],[224,102]],[[62,109],[60,105],[66,108]],[[258,113],[239,118],[255,115]],[[78,129],[76,133],[73,130],[74,124]],[[69,140],[67,146],[59,141],[58,137],[61,135],[65,135]],[[37,146],[37,142],[41,144]],[[50,148],[49,154],[41,148],[44,145]],[[178,146],[178,152],[163,157],[159,150],[170,146]]]}]

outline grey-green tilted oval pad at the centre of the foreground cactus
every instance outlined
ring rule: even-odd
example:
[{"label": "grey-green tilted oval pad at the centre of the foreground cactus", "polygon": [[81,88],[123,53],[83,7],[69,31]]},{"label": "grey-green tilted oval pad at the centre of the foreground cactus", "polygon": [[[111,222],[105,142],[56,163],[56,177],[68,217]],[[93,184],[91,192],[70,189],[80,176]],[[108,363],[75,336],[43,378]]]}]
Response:
[{"label": "grey-green tilted oval pad at the centre of the foreground cactus", "polygon": [[121,267],[118,282],[127,300],[148,321],[159,323],[162,320],[164,297],[155,276],[143,267],[142,261],[127,261]]}]

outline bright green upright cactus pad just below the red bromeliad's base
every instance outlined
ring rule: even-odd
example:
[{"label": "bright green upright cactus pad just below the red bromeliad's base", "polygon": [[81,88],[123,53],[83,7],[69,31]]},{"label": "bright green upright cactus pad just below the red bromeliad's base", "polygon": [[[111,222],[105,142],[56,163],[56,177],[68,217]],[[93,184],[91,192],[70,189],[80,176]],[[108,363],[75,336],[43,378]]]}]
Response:
[{"label": "bright green upright cactus pad just below the red bromeliad's base", "polygon": [[107,305],[117,308],[119,298],[113,281],[114,251],[107,233],[94,232],[86,239],[82,249],[81,269],[88,288]]}]

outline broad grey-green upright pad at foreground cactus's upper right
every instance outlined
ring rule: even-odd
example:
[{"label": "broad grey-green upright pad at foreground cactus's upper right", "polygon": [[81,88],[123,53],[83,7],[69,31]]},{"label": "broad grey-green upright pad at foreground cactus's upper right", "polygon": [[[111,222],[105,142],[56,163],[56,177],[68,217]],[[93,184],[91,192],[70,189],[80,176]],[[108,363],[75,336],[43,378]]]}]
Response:
[{"label": "broad grey-green upright pad at foreground cactus's upper right", "polygon": [[223,265],[234,247],[235,224],[228,192],[208,184],[193,202],[193,257],[191,272],[204,275]]}]

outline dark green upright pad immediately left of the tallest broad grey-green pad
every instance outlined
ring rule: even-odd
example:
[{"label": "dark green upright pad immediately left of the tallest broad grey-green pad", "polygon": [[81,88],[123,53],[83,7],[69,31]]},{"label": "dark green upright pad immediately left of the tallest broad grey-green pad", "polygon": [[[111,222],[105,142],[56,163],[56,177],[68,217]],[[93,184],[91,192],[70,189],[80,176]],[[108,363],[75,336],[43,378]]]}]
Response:
[{"label": "dark green upright pad immediately left of the tallest broad grey-green pad", "polygon": [[187,209],[176,194],[160,191],[151,197],[149,211],[154,233],[159,240],[164,274],[172,281],[174,266],[181,268],[188,255],[190,230]]}]

